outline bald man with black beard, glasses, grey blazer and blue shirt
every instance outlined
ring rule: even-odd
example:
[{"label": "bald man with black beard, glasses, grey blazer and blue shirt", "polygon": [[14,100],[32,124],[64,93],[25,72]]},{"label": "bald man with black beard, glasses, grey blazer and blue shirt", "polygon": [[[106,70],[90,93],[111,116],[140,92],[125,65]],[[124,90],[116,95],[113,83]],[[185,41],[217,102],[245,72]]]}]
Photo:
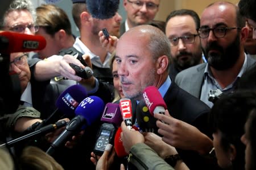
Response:
[{"label": "bald man with black beard, glasses, grey blazer and blue shirt", "polygon": [[245,55],[248,28],[233,3],[212,3],[203,11],[200,25],[197,31],[208,63],[180,72],[175,82],[212,107],[213,102],[208,100],[210,90],[233,92],[255,60]]}]

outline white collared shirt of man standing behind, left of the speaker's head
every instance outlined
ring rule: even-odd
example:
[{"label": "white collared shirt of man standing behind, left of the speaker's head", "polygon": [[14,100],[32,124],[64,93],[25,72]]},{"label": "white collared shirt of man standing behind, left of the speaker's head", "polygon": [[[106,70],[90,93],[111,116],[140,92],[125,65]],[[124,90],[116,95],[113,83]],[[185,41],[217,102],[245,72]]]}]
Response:
[{"label": "white collared shirt of man standing behind, left of the speaker's head", "polygon": [[110,53],[107,54],[104,63],[102,63],[100,56],[97,56],[94,53],[92,53],[90,51],[90,49],[87,48],[86,45],[81,42],[80,37],[76,38],[76,41],[73,44],[73,47],[76,48],[78,51],[80,51],[83,54],[88,54],[90,56],[90,60],[92,61],[93,65],[100,67],[100,68],[109,68],[109,60],[110,60],[110,56],[111,56]]}]

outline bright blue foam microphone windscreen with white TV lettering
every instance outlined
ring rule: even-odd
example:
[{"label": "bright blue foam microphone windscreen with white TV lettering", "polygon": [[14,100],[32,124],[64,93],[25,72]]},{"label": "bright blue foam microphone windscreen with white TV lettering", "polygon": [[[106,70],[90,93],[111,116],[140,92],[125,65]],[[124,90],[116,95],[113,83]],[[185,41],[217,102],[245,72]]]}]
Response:
[{"label": "bright blue foam microphone windscreen with white TV lettering", "polygon": [[75,110],[75,114],[82,115],[86,119],[86,126],[92,125],[96,119],[100,118],[104,110],[104,102],[100,97],[90,96],[82,100]]}]

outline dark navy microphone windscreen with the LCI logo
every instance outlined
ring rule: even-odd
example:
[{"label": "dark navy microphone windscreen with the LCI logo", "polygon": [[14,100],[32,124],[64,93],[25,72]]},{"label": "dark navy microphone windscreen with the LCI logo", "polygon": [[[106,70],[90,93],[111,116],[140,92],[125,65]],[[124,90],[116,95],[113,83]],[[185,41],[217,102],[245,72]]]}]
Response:
[{"label": "dark navy microphone windscreen with the LCI logo", "polygon": [[84,86],[72,85],[57,98],[56,107],[64,115],[72,115],[85,97],[87,93]]}]

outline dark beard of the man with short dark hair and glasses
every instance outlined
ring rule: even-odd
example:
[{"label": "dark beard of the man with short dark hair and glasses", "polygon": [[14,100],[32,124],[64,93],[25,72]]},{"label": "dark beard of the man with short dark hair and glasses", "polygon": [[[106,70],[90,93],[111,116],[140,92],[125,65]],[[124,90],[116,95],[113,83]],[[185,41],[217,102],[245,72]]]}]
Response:
[{"label": "dark beard of the man with short dark hair and glasses", "polygon": [[[186,60],[179,59],[182,56],[189,56]],[[176,57],[172,58],[174,61],[174,65],[179,71],[183,71],[189,67],[200,64],[201,60],[201,52],[200,53],[190,53],[187,51],[181,51]]]}]

